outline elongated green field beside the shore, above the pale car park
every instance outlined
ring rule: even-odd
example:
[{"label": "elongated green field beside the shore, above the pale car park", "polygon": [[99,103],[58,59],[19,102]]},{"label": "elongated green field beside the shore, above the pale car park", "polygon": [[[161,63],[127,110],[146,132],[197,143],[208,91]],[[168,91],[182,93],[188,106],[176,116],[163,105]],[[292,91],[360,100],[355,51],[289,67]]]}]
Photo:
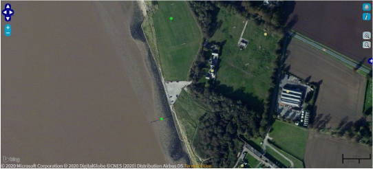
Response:
[{"label": "elongated green field beside the shore, above the pale car park", "polygon": [[184,0],[162,0],[158,5],[159,9],[153,15],[160,57],[158,64],[165,80],[187,80],[202,33]]}]

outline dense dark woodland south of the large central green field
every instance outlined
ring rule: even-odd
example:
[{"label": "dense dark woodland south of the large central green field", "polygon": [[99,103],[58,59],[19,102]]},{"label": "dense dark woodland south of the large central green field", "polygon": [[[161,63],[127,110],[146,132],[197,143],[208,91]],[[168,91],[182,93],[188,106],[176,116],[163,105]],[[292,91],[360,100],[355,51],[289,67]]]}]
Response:
[{"label": "dense dark woodland south of the large central green field", "polygon": [[[242,148],[238,137],[260,137],[262,113],[252,111],[249,104],[231,100],[213,89],[191,84],[188,87],[193,100],[206,106],[206,112],[199,121],[200,143],[197,144],[214,167],[232,168],[237,153]],[[206,163],[205,162],[205,163]]]}]

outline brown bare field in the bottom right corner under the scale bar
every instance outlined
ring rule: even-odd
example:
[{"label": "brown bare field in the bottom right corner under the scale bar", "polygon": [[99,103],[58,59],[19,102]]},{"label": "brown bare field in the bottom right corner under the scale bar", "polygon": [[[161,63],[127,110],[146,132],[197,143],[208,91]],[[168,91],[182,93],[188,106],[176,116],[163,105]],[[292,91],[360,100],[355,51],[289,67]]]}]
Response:
[{"label": "brown bare field in the bottom right corner under the scale bar", "polygon": [[345,139],[331,137],[310,131],[308,137],[304,163],[306,168],[371,168],[373,159],[345,160],[342,164],[342,154],[345,158],[360,158],[373,155],[373,149],[366,146],[352,144]]}]

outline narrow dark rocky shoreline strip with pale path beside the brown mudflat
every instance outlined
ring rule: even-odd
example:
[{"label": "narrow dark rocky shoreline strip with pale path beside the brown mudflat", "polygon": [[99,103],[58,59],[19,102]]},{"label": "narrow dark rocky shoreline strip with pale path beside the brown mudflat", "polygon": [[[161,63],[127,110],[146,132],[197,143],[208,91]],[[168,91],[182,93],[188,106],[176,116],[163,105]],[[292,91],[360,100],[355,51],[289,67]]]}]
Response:
[{"label": "narrow dark rocky shoreline strip with pale path beside the brown mudflat", "polygon": [[[161,146],[163,150],[167,151],[167,153],[169,154],[169,159],[171,159],[172,163],[175,163],[177,161],[179,162],[184,161],[179,164],[191,164],[191,161],[190,161],[191,157],[190,157],[189,149],[186,147],[186,145],[182,146],[182,143],[181,143],[181,142],[184,142],[181,139],[181,138],[184,138],[184,136],[180,134],[178,131],[181,129],[180,124],[178,124],[178,119],[177,119],[175,112],[173,111],[173,106],[170,105],[168,102],[169,94],[167,93],[167,89],[164,84],[164,77],[162,76],[162,71],[160,67],[158,66],[158,64],[156,63],[156,58],[154,57],[153,52],[151,51],[149,47],[149,43],[147,41],[147,37],[145,36],[145,32],[142,30],[142,22],[144,21],[146,14],[147,14],[146,8],[145,8],[146,6],[145,1],[144,0],[134,1],[134,3],[136,2],[137,2],[138,10],[141,11],[141,12],[138,12],[137,15],[140,15],[139,13],[142,13],[142,16],[136,16],[136,14],[134,14],[132,21],[136,21],[136,23],[131,23],[131,35],[135,39],[136,43],[138,44],[138,47],[145,48],[145,50],[147,51],[147,57],[145,58],[145,62],[150,73],[153,75],[152,78],[153,78],[154,88],[156,88],[156,91],[158,91],[156,92],[155,95],[153,95],[155,98],[154,101],[156,102],[156,100],[158,100],[157,105],[161,106],[158,109],[162,109],[162,112],[163,112],[162,114],[164,114],[164,117],[172,117],[172,120],[167,120],[167,128],[171,129],[171,132],[162,132],[162,130],[164,130],[165,128],[164,128],[164,125],[162,125],[162,123],[159,123],[159,121],[157,121],[158,123],[156,123],[156,127],[154,129],[158,133],[168,133],[168,135],[163,135],[163,136],[160,135],[159,139],[162,144]],[[138,17],[140,17],[140,19]],[[136,29],[140,29],[140,31],[135,30],[135,28],[132,29],[132,27],[136,27]],[[139,44],[139,43],[143,43],[143,44]],[[159,98],[159,99],[156,99],[156,98]],[[165,120],[162,122],[165,122]],[[178,140],[175,140],[175,138],[173,139],[170,138],[171,135],[178,135],[178,138],[177,138]],[[180,137],[180,135],[182,136]],[[172,143],[167,143],[167,141],[164,140],[164,138],[171,139],[172,141],[171,140],[168,140],[168,141],[171,141]],[[180,148],[182,151],[178,152],[178,149],[180,150]],[[187,153],[185,152],[184,149],[187,149]],[[184,157],[185,154],[187,155],[187,159],[182,160],[183,158],[185,158]]]}]

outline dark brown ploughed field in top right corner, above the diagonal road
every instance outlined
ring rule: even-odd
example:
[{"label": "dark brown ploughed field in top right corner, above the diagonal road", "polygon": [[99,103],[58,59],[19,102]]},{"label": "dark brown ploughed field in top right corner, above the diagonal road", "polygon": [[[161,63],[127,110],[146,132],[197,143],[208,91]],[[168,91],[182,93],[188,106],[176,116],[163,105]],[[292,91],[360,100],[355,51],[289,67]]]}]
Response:
[{"label": "dark brown ploughed field in top right corner, above the diagonal road", "polygon": [[297,15],[294,30],[309,36],[315,41],[364,64],[372,57],[373,48],[363,49],[363,32],[372,32],[372,20],[363,21],[363,3],[373,0],[295,0],[295,10],[290,16]]}]

